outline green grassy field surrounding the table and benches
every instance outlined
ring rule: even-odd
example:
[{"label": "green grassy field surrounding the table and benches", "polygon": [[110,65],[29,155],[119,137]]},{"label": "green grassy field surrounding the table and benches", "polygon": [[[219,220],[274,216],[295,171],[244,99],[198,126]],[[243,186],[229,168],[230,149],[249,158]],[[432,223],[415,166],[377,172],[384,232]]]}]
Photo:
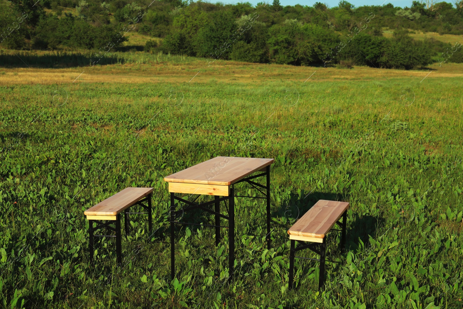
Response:
[{"label": "green grassy field surrounding the table and benches", "polygon": [[[3,307],[462,307],[462,64],[403,71],[132,56],[0,70]],[[237,199],[235,281],[225,282],[226,230],[215,247],[213,229],[197,226],[177,229],[171,280],[163,177],[215,156],[276,159],[273,246],[264,246],[265,203]],[[128,186],[155,188],[156,232],[133,215],[124,267],[114,267],[110,239],[91,267],[83,211]],[[327,263],[325,289],[318,264],[298,260],[288,290],[288,227],[322,198],[350,202],[348,250],[338,254],[329,234],[328,259],[340,263]]]}]

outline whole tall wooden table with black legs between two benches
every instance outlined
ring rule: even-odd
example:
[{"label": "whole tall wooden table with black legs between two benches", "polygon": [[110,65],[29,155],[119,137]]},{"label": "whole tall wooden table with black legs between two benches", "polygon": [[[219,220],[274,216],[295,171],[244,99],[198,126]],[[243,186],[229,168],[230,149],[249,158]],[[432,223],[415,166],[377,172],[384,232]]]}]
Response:
[{"label": "whole tall wooden table with black legs between two benches", "polygon": [[[228,227],[229,241],[229,269],[230,278],[234,272],[235,261],[235,197],[263,198],[267,200],[267,247],[270,249],[270,165],[275,159],[268,158],[237,158],[237,157],[216,157],[200,164],[196,164],[188,169],[181,170],[175,174],[164,177],[164,181],[169,183],[170,192],[170,263],[171,276],[175,277],[175,223],[185,225],[199,225],[196,223],[178,222],[176,217],[183,212],[200,208],[211,214],[215,214],[215,225],[205,225],[215,227],[216,245],[220,240],[220,227]],[[261,172],[250,176],[253,173]],[[259,177],[266,177],[266,185],[253,181]],[[247,182],[262,195],[265,196],[243,196],[235,195],[234,184]],[[261,191],[260,189],[263,189]],[[209,202],[194,203],[183,199],[177,195],[213,195],[214,199]],[[222,196],[222,197],[220,197]],[[175,210],[175,200],[187,204],[188,208]],[[220,213],[220,202],[228,200],[228,216]],[[206,208],[215,205],[215,209]],[[220,218],[228,220],[228,226],[220,226]]]}]

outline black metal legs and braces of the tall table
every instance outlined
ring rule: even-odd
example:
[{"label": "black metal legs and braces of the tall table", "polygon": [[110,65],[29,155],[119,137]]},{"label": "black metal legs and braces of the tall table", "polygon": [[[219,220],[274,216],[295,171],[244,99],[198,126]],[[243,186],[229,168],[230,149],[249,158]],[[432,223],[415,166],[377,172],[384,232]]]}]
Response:
[{"label": "black metal legs and braces of the tall table", "polygon": [[[258,178],[258,177],[266,177],[266,185],[256,183],[251,181],[251,179]],[[254,189],[260,192],[264,196],[244,196],[244,195],[235,195],[235,189],[233,187],[234,184],[247,182],[249,183]],[[262,188],[263,190],[259,189]],[[194,201],[199,197],[198,195]],[[234,275],[234,266],[235,266],[235,197],[249,197],[249,198],[262,198],[267,200],[267,234],[265,236],[267,240],[267,248],[270,249],[270,165],[265,168],[265,172],[262,172],[258,175],[245,177],[243,179],[238,180],[236,183],[230,185],[229,194],[228,196],[220,197],[218,195],[214,195],[214,199],[209,202],[204,203],[194,203],[189,202],[181,197],[175,196],[174,192],[170,192],[170,276],[173,279],[175,277],[175,224],[183,224],[183,225],[199,225],[203,227],[215,227],[215,245],[219,245],[220,242],[220,228],[225,227],[228,228],[228,267],[230,269],[229,272],[229,281],[233,280]],[[228,200],[228,216],[220,213],[220,202]],[[175,210],[175,201],[179,201],[182,203],[187,204],[188,208],[182,208],[181,210]],[[214,210],[206,208],[209,205],[215,205]],[[178,222],[176,218],[187,211],[191,211],[194,209],[200,208],[208,213],[215,214],[215,225],[206,225],[206,224],[198,224],[198,223],[188,223],[188,222]],[[224,218],[228,220],[228,226],[221,226],[220,225],[220,218]]]}]

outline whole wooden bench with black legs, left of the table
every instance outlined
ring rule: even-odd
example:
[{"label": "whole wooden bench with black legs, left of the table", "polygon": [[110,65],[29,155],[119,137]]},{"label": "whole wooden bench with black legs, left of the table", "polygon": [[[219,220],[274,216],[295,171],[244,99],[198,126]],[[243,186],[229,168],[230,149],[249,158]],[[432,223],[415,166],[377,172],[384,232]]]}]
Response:
[{"label": "whole wooden bench with black legs, left of the table", "polygon": [[[108,197],[106,200],[99,202],[94,207],[84,211],[84,215],[87,216],[88,220],[88,234],[89,234],[89,245],[88,250],[90,252],[90,263],[93,265],[94,237],[116,237],[116,259],[118,265],[122,264],[122,253],[121,253],[121,233],[120,233],[120,214],[124,211],[125,221],[125,234],[129,233],[129,214],[148,214],[148,229],[152,229],[151,220],[151,197],[153,195],[154,188],[125,188],[124,190],[116,193],[115,195]],[[142,204],[148,202],[148,205]],[[145,213],[131,213],[128,212],[129,208],[134,205],[140,205],[147,212]],[[101,220],[106,220],[103,223]],[[96,227],[94,227],[96,223]],[[115,227],[109,225],[114,223]],[[116,233],[113,235],[94,235],[94,232],[100,228],[106,227],[108,230]]]}]

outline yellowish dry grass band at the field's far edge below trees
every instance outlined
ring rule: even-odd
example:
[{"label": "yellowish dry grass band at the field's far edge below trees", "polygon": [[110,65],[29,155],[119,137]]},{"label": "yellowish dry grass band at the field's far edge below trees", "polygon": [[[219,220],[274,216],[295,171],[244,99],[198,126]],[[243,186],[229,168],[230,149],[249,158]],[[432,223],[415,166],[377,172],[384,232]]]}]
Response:
[{"label": "yellowish dry grass band at the field's far edge below trees", "polygon": [[[358,66],[353,69],[345,70],[332,67],[295,67],[261,63],[244,64],[232,61],[217,61],[211,66],[207,66],[206,63],[198,61],[194,63],[176,63],[170,65],[167,65],[167,63],[146,63],[143,65],[129,63],[71,69],[6,68],[4,69],[5,74],[0,75],[0,85],[7,86],[38,83],[61,84],[72,82],[206,83],[209,82],[211,78],[215,78],[217,82],[225,83],[300,81],[301,83],[308,84],[311,82],[326,82],[340,79],[388,81],[394,78],[404,77],[416,78],[419,80],[423,78],[463,77],[463,63],[445,63],[442,66],[439,66],[438,63],[434,63],[430,66],[430,69],[432,69],[431,73],[429,73],[430,71],[428,70],[375,69]],[[309,76],[311,77],[307,79]]]}]

